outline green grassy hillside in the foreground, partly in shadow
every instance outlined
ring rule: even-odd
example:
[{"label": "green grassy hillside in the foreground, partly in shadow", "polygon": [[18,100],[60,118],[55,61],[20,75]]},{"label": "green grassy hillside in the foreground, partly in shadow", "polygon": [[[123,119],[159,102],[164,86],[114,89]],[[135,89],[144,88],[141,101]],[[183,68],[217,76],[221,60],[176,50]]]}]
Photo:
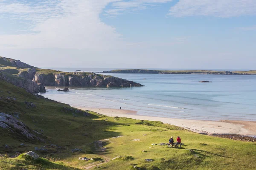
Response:
[{"label": "green grassy hillside in the foreground, partly in shadow", "polygon": [[[33,102],[36,108],[26,108],[25,101]],[[18,114],[18,120],[42,133],[40,137],[45,140],[45,143],[30,140],[0,128],[0,154],[7,156],[0,157],[0,170],[131,170],[135,169],[133,166],[143,170],[256,169],[256,142],[204,136],[161,122],[108,117],[90,111],[90,116],[80,113],[73,116],[73,111],[66,113],[63,107],[70,108],[0,81],[0,112]],[[116,136],[120,137],[112,138]],[[182,148],[151,145],[168,142],[170,136],[180,136],[185,145]],[[101,142],[103,146],[98,145]],[[34,147],[47,151],[35,151]],[[72,153],[74,148],[82,150]],[[38,153],[41,158],[37,161],[24,155],[9,158],[15,152],[28,151]],[[116,156],[125,157],[112,160]],[[82,161],[79,157],[93,159]]]}]

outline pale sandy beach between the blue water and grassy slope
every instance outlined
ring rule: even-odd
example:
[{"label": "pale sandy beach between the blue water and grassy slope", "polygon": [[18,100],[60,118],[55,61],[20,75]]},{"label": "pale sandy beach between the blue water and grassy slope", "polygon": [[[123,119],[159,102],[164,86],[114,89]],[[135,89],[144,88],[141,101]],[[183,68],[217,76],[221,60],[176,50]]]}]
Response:
[{"label": "pale sandy beach between the blue water and grassy slope", "polygon": [[97,113],[101,113],[107,116],[119,116],[128,117],[132,119],[160,121],[163,123],[169,123],[184,127],[197,133],[236,133],[240,135],[256,135],[256,122],[251,121],[204,121],[204,120],[189,120],[189,119],[173,119],[153,116],[141,116],[137,115],[136,111],[108,109],[108,108],[83,108],[78,106],[72,106],[81,110],[89,110]]}]

